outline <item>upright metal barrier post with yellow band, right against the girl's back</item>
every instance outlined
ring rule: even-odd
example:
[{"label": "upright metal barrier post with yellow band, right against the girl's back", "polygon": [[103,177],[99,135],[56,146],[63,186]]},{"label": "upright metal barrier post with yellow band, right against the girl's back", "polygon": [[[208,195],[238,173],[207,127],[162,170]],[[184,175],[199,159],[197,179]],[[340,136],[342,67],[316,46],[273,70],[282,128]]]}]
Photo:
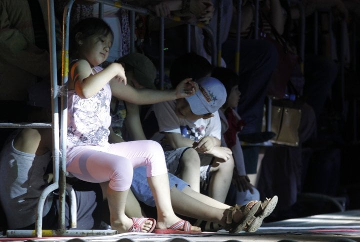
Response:
[{"label": "upright metal barrier post with yellow band, right against the girl's back", "polygon": [[[65,184],[66,184],[66,136],[67,136],[67,81],[69,65],[69,23],[70,11],[74,0],[69,0],[64,8],[62,23],[62,70],[61,85],[61,120],[60,120],[60,149],[61,159],[59,164],[59,229],[65,229]],[[101,7],[99,6],[99,9]],[[101,8],[102,9],[102,8]],[[100,16],[99,12],[99,16]]]}]

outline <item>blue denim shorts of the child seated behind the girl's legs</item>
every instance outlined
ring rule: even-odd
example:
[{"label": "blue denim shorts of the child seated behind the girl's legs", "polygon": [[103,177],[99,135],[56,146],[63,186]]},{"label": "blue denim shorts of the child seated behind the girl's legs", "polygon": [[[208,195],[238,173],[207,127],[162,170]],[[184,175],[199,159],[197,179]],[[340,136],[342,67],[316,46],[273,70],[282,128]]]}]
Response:
[{"label": "blue denim shorts of the child seated behind the girl's legs", "polygon": [[[169,178],[170,189],[176,187],[179,191],[182,191],[185,187],[189,186],[180,178],[167,173]],[[146,167],[140,166],[134,169],[131,183],[131,191],[135,195],[135,198],[144,204],[155,207],[155,201],[153,199],[150,187],[146,180]]]}]

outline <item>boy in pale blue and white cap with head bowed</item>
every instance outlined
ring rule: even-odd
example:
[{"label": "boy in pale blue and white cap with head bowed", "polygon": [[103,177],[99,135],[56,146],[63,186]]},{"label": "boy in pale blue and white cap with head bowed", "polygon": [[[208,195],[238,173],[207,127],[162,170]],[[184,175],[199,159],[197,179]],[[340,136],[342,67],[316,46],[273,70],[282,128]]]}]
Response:
[{"label": "boy in pale blue and white cap with head bowed", "polygon": [[[220,146],[221,123],[217,110],[226,100],[226,90],[213,77],[200,78],[196,83],[199,89],[195,95],[153,105],[159,132],[163,134],[157,140],[164,148],[169,173],[184,181],[182,173],[192,174],[191,181],[186,181],[191,187],[200,183],[208,185],[209,196],[224,202],[234,166],[231,150]],[[199,154],[200,164],[180,162],[181,154],[191,147]]]}]

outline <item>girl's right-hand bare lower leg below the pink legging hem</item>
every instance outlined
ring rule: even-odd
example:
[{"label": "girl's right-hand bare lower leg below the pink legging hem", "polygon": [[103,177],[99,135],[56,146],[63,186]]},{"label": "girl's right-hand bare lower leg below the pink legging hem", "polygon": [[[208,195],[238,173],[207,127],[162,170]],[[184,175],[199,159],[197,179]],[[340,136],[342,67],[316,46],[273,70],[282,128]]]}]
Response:
[{"label": "girl's right-hand bare lower leg below the pink legging hem", "polygon": [[[167,229],[181,219],[172,210],[170,201],[170,189],[167,173],[147,177],[157,210],[157,229]],[[191,231],[200,231],[200,228],[192,226]]]}]

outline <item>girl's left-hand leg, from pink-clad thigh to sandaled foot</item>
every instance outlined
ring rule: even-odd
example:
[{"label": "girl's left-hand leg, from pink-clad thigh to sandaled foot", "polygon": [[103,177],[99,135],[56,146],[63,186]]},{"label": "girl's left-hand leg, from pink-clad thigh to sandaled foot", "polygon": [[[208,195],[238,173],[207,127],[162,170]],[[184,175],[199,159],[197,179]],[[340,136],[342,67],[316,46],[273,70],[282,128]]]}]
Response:
[{"label": "girl's left-hand leg, from pink-clad thigh to sandaled foot", "polygon": [[[96,150],[97,149],[97,150]],[[101,151],[102,149],[102,151]],[[103,183],[109,181],[105,194],[110,212],[110,225],[118,233],[127,232],[133,221],[125,215],[128,189],[132,180],[132,164],[121,156],[109,154],[102,147],[76,147],[68,152],[66,169],[80,180]],[[152,221],[142,225],[142,232],[150,230]]]}]

